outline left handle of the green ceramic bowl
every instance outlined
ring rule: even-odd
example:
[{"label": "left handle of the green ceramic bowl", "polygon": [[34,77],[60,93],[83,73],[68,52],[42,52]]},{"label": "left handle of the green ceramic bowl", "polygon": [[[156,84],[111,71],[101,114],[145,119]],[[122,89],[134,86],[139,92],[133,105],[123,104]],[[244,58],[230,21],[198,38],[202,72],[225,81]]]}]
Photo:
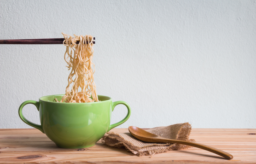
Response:
[{"label": "left handle of the green ceramic bowl", "polygon": [[39,102],[38,101],[34,101],[34,100],[28,100],[28,101],[24,101],[20,107],[19,107],[19,116],[20,116],[20,119],[25,122],[26,124],[28,124],[29,126],[32,126],[34,128],[37,128],[38,130],[40,130],[41,132],[44,133],[43,131],[43,128],[41,125],[38,125],[38,124],[34,124],[33,122],[30,122],[28,121],[22,114],[22,108],[27,105],[27,104],[33,104],[37,107],[37,110],[39,111]]}]

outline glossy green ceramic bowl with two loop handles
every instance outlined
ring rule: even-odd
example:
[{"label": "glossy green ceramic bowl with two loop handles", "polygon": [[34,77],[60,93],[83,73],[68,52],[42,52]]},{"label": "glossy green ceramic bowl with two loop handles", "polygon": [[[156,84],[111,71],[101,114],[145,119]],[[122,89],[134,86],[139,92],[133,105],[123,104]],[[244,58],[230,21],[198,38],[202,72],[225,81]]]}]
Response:
[{"label": "glossy green ceramic bowl with two loop handles", "polygon": [[[124,101],[112,102],[112,98],[98,95],[99,102],[60,103],[63,95],[51,95],[28,100],[19,108],[19,116],[26,124],[45,133],[58,147],[68,149],[89,148],[96,144],[106,132],[123,124],[131,114],[130,106]],[[22,114],[26,104],[34,104],[39,111],[41,125],[28,121]],[[125,118],[110,125],[114,107],[124,104],[128,113]]]}]

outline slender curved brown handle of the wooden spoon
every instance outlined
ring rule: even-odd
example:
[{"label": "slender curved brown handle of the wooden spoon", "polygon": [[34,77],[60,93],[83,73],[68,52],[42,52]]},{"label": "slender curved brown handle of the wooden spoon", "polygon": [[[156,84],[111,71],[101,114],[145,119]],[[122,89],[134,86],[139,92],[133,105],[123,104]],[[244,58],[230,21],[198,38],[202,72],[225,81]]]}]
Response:
[{"label": "slender curved brown handle of the wooden spoon", "polygon": [[233,158],[233,156],[231,154],[229,154],[225,151],[222,151],[220,149],[216,149],[211,146],[204,145],[204,144],[190,142],[190,141],[183,141],[183,140],[167,139],[167,138],[164,138],[164,139],[161,138],[161,140],[163,140],[163,141],[165,140],[166,143],[177,143],[177,144],[189,145],[189,146],[193,146],[193,147],[200,148],[203,150],[207,150],[207,151],[218,154],[218,155],[220,155],[226,159],[229,159],[229,160],[231,160]]}]

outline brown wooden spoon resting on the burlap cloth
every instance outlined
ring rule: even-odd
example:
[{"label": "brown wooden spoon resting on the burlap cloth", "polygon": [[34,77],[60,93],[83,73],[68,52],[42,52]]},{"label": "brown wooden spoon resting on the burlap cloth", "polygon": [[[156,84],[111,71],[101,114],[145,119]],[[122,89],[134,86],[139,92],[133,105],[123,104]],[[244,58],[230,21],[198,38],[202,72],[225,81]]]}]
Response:
[{"label": "brown wooden spoon resting on the burlap cloth", "polygon": [[233,156],[231,154],[229,154],[225,151],[222,151],[222,150],[219,150],[219,149],[216,149],[216,148],[204,145],[204,144],[160,137],[160,136],[157,136],[155,134],[144,131],[143,129],[138,128],[136,126],[129,126],[128,130],[132,134],[133,137],[135,137],[135,138],[137,138],[141,141],[144,141],[144,142],[177,143],[177,144],[189,145],[189,146],[193,146],[193,147],[196,147],[196,148],[200,148],[200,149],[203,149],[203,150],[210,151],[212,153],[218,154],[218,155],[220,155],[220,156],[222,156],[226,159],[229,159],[229,160],[231,160],[233,158]]}]

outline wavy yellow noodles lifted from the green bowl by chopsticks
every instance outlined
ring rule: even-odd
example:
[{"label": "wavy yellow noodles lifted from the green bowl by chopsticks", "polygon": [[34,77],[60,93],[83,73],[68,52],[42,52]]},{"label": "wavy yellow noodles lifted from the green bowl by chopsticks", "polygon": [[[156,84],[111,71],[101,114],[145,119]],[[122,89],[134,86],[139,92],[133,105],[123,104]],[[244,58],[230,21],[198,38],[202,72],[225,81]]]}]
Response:
[{"label": "wavy yellow noodles lifted from the green bowl by chopsticks", "polygon": [[[66,67],[68,67],[68,70],[71,69],[71,73],[68,76],[66,93],[60,102],[82,103],[99,101],[93,75],[95,70],[94,63],[92,63],[94,52],[93,37],[91,35],[77,36],[74,34],[75,37],[73,38],[70,35],[62,34],[65,39],[63,44],[66,46],[64,54],[68,65]],[[79,41],[78,44],[76,44],[77,41]],[[72,83],[70,90],[69,86]]]}]

